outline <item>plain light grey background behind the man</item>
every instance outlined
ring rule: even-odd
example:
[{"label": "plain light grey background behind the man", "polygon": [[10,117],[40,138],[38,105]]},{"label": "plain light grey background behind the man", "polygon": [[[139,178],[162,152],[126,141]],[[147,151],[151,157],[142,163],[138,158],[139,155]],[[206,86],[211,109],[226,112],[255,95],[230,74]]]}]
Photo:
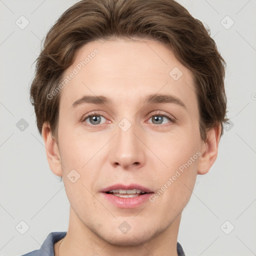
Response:
[{"label": "plain light grey background behind the man", "polygon": [[[41,39],[75,2],[0,0],[0,255],[38,249],[48,233],[68,227],[69,202],[48,167],[28,91]],[[178,2],[207,24],[227,62],[233,123],[225,127],[212,168],[197,176],[178,241],[188,256],[256,255],[256,0]],[[15,23],[21,15],[29,21],[24,29]],[[234,21],[229,29],[226,15]],[[28,124],[23,131],[21,118]],[[24,234],[15,228],[22,220],[29,226]]]}]

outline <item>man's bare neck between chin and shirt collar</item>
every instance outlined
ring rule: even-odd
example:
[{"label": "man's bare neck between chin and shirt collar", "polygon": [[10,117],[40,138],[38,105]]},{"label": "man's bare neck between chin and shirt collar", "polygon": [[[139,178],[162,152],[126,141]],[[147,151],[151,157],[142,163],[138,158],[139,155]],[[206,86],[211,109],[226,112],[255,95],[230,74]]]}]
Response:
[{"label": "man's bare neck between chin and shirt collar", "polygon": [[115,242],[115,236],[106,240],[85,226],[70,206],[68,230],[66,236],[54,244],[54,255],[177,256],[176,244],[180,218],[181,214],[164,231],[154,232],[148,240],[142,243],[136,234],[133,234],[134,245],[120,245]]}]

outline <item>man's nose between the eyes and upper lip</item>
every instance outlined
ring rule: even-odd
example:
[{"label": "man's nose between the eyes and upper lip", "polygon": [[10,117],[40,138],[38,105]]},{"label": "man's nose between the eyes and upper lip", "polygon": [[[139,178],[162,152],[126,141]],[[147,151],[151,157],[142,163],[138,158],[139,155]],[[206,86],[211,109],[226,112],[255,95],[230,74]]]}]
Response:
[{"label": "man's nose between the eyes and upper lip", "polygon": [[[127,127],[129,128],[127,129]],[[116,135],[111,143],[109,153],[109,160],[113,167],[125,170],[142,167],[145,162],[143,140],[142,132],[135,127],[135,124],[131,124],[127,120],[119,123],[116,126]]]}]

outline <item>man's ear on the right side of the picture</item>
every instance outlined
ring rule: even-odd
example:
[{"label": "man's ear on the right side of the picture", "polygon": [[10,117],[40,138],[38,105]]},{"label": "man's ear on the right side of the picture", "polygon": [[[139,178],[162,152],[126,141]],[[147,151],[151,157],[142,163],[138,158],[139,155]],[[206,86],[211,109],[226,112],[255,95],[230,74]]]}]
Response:
[{"label": "man's ear on the right side of the picture", "polygon": [[198,174],[205,174],[209,171],[217,158],[218,143],[220,139],[221,125],[209,129],[206,134],[206,141],[202,142],[201,156],[198,160]]}]

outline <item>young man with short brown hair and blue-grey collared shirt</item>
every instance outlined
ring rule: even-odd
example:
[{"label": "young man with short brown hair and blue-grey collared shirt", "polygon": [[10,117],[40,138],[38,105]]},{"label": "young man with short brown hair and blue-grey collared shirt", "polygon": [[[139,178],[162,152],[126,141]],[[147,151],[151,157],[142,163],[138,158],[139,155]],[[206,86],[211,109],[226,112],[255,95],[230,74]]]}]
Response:
[{"label": "young man with short brown hair and blue-grey collared shirt", "polygon": [[181,213],[214,163],[224,60],[173,0],[82,0],[47,33],[31,102],[70,202],[25,255],[184,255]]}]

